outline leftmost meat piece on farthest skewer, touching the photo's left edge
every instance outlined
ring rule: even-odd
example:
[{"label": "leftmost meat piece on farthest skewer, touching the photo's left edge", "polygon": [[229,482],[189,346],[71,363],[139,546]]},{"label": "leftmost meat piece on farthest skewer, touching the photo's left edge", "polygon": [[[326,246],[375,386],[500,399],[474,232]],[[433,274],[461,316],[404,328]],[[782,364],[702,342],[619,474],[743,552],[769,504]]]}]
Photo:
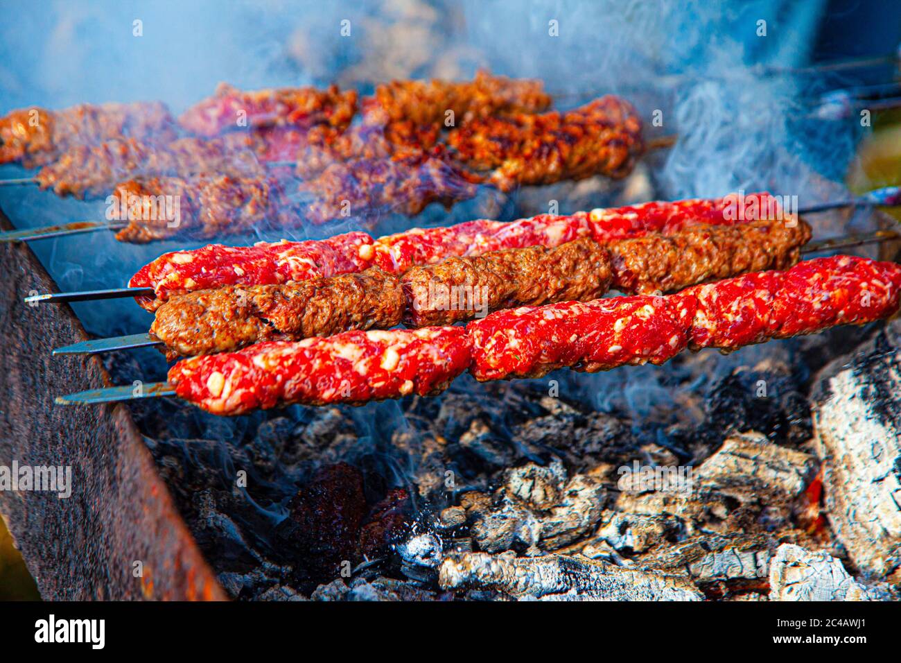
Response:
[{"label": "leftmost meat piece on farthest skewer, touching the photo's left edge", "polygon": [[173,124],[160,102],[80,104],[59,111],[23,108],[0,118],[0,163],[23,161],[34,168],[76,145],[113,138],[171,140]]}]

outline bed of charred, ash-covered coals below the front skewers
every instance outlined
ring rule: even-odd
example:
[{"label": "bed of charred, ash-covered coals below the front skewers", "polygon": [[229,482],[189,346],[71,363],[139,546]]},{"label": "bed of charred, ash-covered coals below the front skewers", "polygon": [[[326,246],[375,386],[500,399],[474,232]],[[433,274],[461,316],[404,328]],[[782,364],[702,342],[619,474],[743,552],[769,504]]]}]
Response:
[{"label": "bed of charred, ash-covered coals below the front skewers", "polygon": [[[633,419],[551,395],[547,382],[469,378],[440,398],[363,408],[221,419],[163,400],[132,412],[237,598],[763,597],[779,544],[843,556],[819,517],[807,384],[787,370],[796,352],[700,384],[709,360],[687,357],[668,380],[686,390],[688,415]],[[114,373],[135,370],[133,357],[118,356]],[[759,430],[733,432],[742,426]],[[637,468],[689,485],[623,483]],[[563,585],[505,585],[544,577],[537,560],[557,555],[573,560],[547,562]],[[483,583],[487,568],[499,576]],[[629,593],[629,577],[641,591]]]}]

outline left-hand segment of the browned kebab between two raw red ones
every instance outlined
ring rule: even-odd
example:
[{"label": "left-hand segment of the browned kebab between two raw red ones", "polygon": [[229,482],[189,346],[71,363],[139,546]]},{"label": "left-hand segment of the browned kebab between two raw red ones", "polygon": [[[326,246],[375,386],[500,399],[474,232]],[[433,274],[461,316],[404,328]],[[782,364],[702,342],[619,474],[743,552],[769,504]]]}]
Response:
[{"label": "left-hand segment of the browned kebab between two raw red ones", "polygon": [[172,359],[261,341],[387,329],[400,324],[403,310],[400,281],[372,268],[290,286],[227,286],[178,295],[157,309],[150,333],[166,343]]}]

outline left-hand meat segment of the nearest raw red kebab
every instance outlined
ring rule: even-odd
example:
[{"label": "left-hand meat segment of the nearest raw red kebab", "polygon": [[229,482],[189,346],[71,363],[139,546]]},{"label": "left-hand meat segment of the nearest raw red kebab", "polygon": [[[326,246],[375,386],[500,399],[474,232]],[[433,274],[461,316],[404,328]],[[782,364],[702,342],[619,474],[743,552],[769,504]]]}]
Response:
[{"label": "left-hand meat segment of the nearest raw red kebab", "polygon": [[429,395],[469,366],[463,327],[350,331],[296,343],[272,341],[175,364],[176,393],[214,414],[291,403],[364,403]]}]

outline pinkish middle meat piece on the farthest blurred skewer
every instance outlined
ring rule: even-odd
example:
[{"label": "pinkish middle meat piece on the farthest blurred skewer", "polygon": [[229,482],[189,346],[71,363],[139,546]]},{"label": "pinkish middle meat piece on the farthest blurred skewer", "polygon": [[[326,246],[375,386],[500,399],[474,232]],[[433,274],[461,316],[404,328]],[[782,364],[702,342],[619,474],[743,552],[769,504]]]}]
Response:
[{"label": "pinkish middle meat piece on the farthest blurred skewer", "polygon": [[[357,112],[357,91],[337,86],[283,87],[245,91],[220,83],[208,97],[178,118],[188,131],[214,136],[242,126],[300,126],[329,124],[345,127]],[[244,120],[242,124],[239,124]]]}]

